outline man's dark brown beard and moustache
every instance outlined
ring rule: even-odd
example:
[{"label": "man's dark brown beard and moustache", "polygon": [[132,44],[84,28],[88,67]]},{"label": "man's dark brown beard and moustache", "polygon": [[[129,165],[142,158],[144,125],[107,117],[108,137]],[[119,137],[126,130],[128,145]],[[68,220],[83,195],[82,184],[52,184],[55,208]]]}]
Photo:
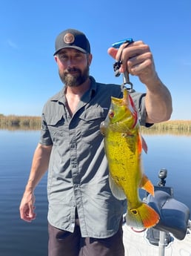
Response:
[{"label": "man's dark brown beard and moustache", "polygon": [[[61,72],[61,70],[59,70],[59,76],[60,76],[61,82],[63,82],[64,85],[69,87],[78,87],[81,84],[83,84],[89,77],[89,70],[90,68],[88,65],[83,72],[78,68],[67,68],[67,71],[64,71],[64,72]],[[70,72],[76,72],[76,73],[73,74]]]}]

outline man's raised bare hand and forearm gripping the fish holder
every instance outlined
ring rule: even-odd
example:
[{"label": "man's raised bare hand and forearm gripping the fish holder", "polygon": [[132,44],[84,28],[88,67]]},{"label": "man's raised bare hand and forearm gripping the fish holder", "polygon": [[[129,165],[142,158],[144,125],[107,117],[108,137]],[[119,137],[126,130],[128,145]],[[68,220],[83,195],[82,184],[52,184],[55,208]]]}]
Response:
[{"label": "man's raised bare hand and forearm gripping the fish holder", "polygon": [[111,47],[107,52],[115,60],[121,60],[122,65],[119,69],[121,73],[127,71],[133,76],[138,76],[141,82],[146,85],[146,122],[155,123],[170,119],[172,114],[170,91],[161,82],[155,71],[150,47],[142,41],[137,41],[130,45],[123,44],[118,49]]}]

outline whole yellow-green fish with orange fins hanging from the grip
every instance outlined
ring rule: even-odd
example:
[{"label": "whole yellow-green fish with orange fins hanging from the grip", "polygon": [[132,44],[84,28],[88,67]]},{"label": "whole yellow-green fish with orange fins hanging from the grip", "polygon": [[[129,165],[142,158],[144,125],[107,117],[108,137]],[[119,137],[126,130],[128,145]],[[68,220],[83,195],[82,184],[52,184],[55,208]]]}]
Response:
[{"label": "whole yellow-green fish with orange fins hanging from the grip", "polygon": [[144,188],[154,195],[154,188],[143,173],[141,151],[142,148],[147,151],[147,144],[141,137],[138,113],[126,88],[122,99],[111,98],[110,111],[100,129],[104,135],[110,189],[119,200],[127,198],[127,225],[137,229],[155,226],[158,214],[138,194],[138,188]]}]

